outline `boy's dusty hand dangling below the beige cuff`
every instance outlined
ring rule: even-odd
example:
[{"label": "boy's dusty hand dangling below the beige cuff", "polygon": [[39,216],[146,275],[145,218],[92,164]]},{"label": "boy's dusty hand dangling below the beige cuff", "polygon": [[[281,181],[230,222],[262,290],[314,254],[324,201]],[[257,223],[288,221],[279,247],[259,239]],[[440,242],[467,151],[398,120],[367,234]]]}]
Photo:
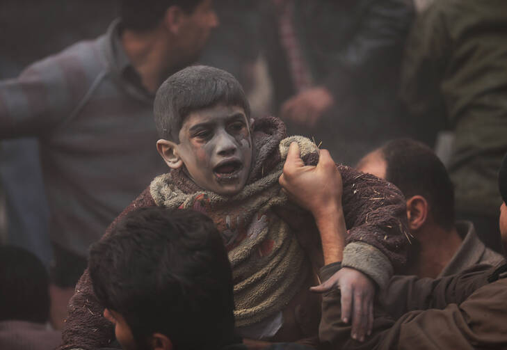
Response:
[{"label": "boy's dusty hand dangling below the beige cuff", "polygon": [[341,292],[341,320],[348,323],[352,315],[351,337],[364,341],[365,335],[370,335],[373,327],[373,281],[360,271],[343,267],[324,283],[311,287],[310,290],[324,293],[334,288],[339,288]]}]

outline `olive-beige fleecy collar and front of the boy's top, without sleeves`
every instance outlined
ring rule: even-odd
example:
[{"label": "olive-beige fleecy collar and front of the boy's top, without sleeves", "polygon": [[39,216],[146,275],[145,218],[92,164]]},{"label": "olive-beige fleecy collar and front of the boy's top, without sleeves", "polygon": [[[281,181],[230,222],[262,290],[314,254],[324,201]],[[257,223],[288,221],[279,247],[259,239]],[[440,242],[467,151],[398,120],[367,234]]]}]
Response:
[{"label": "olive-beige fleecy collar and front of the boy's top, without sleeves", "polygon": [[[262,149],[266,147],[263,138],[272,139],[273,134],[254,134],[254,144],[259,146],[255,148],[255,165],[246,186],[233,197],[197,189],[189,184],[188,177],[175,171],[156,177],[150,185],[156,205],[195,209],[213,219],[232,265],[234,315],[239,327],[255,324],[282,310],[299,292],[308,271],[303,267],[305,254],[296,235],[272,209],[287,205],[278,177],[290,143],[298,142],[301,157],[308,159],[311,155],[313,161],[316,145],[302,136],[284,138],[273,156],[273,152]],[[263,154],[272,164],[263,161],[267,167],[260,164],[261,175],[256,176]],[[273,157],[278,161],[273,163]]]}]

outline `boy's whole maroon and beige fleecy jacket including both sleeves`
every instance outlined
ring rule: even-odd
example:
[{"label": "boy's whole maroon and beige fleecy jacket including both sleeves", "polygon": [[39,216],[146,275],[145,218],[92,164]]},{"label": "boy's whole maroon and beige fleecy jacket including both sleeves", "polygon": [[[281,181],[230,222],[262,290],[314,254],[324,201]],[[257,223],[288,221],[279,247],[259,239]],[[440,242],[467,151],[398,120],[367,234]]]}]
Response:
[{"label": "boy's whole maroon and beige fleecy jacket including both sleeves", "polygon": [[[288,201],[278,177],[291,142],[299,143],[306,164],[317,163],[318,150],[307,138],[285,138],[284,125],[277,118],[256,120],[252,138],[254,161],[240,193],[226,198],[204,191],[184,170],[171,170],[156,177],[111,223],[106,235],[128,212],[140,207],[204,212],[213,219],[229,252],[236,326],[250,326],[284,312],[282,328],[290,325],[298,331],[285,333],[291,334],[291,339],[277,341],[294,341],[316,334],[318,329],[320,316],[308,317],[308,313],[315,314],[313,309],[319,310],[319,305],[305,305],[310,298],[303,295],[311,280],[309,273],[322,266],[322,251],[312,216]],[[405,262],[408,230],[403,195],[373,175],[346,166],[339,166],[339,170],[348,228],[342,264],[366,273],[384,287],[393,269]],[[62,349],[104,347],[114,339],[113,325],[102,317],[103,308],[95,299],[88,271],[79,280],[68,311]],[[305,316],[298,320],[298,315]],[[313,321],[308,324],[305,319]]]}]

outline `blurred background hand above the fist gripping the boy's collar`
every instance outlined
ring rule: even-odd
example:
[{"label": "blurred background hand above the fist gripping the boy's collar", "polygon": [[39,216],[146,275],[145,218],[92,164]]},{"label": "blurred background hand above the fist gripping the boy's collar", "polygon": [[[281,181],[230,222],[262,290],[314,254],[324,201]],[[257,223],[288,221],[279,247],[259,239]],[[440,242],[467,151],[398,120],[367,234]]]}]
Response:
[{"label": "blurred background hand above the fist gripping the boy's collar", "polygon": [[309,88],[282,104],[280,118],[313,127],[333,103],[332,95],[328,89],[323,87]]}]

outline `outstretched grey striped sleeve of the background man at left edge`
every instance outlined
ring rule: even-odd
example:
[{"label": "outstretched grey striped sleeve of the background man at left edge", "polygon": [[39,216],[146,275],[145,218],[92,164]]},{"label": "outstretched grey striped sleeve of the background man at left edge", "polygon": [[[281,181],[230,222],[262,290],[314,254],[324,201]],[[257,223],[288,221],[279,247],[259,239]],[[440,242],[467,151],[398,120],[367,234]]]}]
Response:
[{"label": "outstretched grey striped sleeve of the background man at left edge", "polygon": [[[45,134],[71,115],[83,82],[73,81],[76,74],[63,70],[60,63],[47,58],[16,79],[0,81],[0,139]],[[69,83],[77,87],[67,88]]]}]

